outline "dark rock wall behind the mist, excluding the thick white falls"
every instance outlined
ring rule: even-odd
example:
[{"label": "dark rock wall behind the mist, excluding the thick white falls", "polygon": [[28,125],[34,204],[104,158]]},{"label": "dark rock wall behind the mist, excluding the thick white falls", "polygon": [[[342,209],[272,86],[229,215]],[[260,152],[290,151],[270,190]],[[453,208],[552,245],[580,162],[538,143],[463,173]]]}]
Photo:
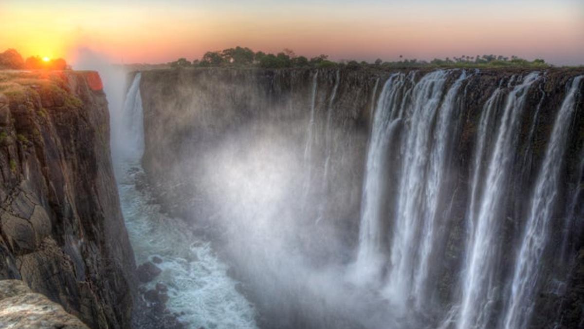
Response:
[{"label": "dark rock wall behind the mist, excluding the thick white falls", "polygon": [[[385,82],[398,73],[395,79],[405,87],[398,85],[396,94],[388,97],[387,92],[383,94]],[[258,229],[260,235],[282,231],[282,238],[294,240],[291,245],[297,247],[298,252],[310,255],[308,262],[313,262],[312,266],[347,264],[354,261],[359,240],[368,238],[360,237],[359,232],[365,172],[369,170],[366,168],[367,149],[371,143],[373,114],[384,107],[413,111],[412,108],[420,106],[416,101],[443,104],[447,91],[461,79],[461,87],[452,100],[453,114],[447,121],[448,138],[444,140],[447,148],[440,154],[445,168],[439,173],[440,189],[444,192],[436,197],[436,208],[433,208],[440,224],[432,236],[432,257],[427,261],[430,283],[427,292],[422,294],[426,300],[420,301],[427,303],[432,311],[420,312],[429,318],[429,323],[438,325],[441,316],[464,294],[460,273],[469,252],[467,241],[474,238],[467,218],[474,184],[474,159],[479,152],[477,143],[484,140],[485,154],[494,152],[498,131],[502,129],[499,127],[509,120],[505,118],[517,114],[518,123],[513,128],[513,138],[509,139],[513,143],[510,146],[512,152],[505,153],[505,159],[509,160],[505,160],[505,168],[501,168],[506,171],[507,179],[496,192],[500,199],[493,201],[497,205],[496,225],[489,227],[496,237],[493,240],[496,248],[492,253],[496,260],[493,266],[489,266],[492,271],[489,284],[498,288],[492,290],[496,296],[489,300],[492,317],[488,319],[491,321],[488,327],[498,327],[509,307],[507,296],[512,290],[516,253],[522,248],[530,197],[543,166],[555,118],[574,77],[584,74],[584,71],[559,68],[541,71],[536,83],[518,92],[516,98],[525,94],[521,98],[524,105],[510,111],[506,111],[505,106],[507,103],[510,107],[515,106],[513,92],[519,90],[517,86],[530,74],[527,70],[467,70],[464,78],[461,78],[461,70],[451,70],[436,74],[440,78],[434,82],[419,84],[430,73],[426,70],[349,69],[145,71],[141,75],[140,87],[145,135],[142,165],[167,211],[203,225],[207,233],[216,229],[215,236],[227,240],[227,244],[237,244],[233,242],[237,234],[229,235],[222,229],[234,229],[238,224],[234,218],[253,213],[241,226],[235,226],[234,231],[249,236],[256,234]],[[440,87],[436,87],[439,83],[442,83]],[[416,88],[428,89],[424,93]],[[433,88],[439,90],[433,91]],[[579,96],[583,89],[584,84],[578,87],[572,119],[565,127],[566,152],[555,190],[555,200],[558,201],[552,207],[553,218],[561,220],[550,222],[550,234],[545,237],[546,245],[538,265],[541,272],[536,283],[538,294],[531,323],[544,323],[550,327],[578,325],[584,318],[578,307],[582,299],[578,293],[582,289],[579,279],[582,256],[578,255],[584,237],[581,224],[584,211],[581,206],[584,202],[584,102]],[[412,99],[415,92],[419,93],[419,100]],[[431,92],[439,97],[436,100],[430,98]],[[382,94],[393,104],[382,104]],[[498,96],[493,97],[493,94]],[[488,105],[489,100],[493,102],[492,106]],[[484,132],[485,136],[480,136],[481,118],[486,108],[492,108],[492,121]],[[439,111],[443,109],[436,113]],[[404,194],[399,182],[409,170],[403,164],[410,163],[408,156],[412,152],[412,149],[405,148],[404,141],[408,138],[408,129],[418,124],[410,117],[413,116],[411,113],[395,112],[392,115],[392,120],[398,116],[404,119],[395,120],[395,126],[382,128],[393,131],[387,136],[390,145],[387,152],[380,155],[384,157],[380,162],[383,168],[379,169],[383,181],[377,189],[383,202],[376,211],[382,214],[383,220],[377,227],[381,233],[376,248],[386,260],[390,259],[391,246],[396,245],[397,238],[392,234],[399,229],[399,224],[394,218],[399,218],[399,211],[403,211],[399,207],[400,196]],[[438,117],[425,118],[426,129],[419,131],[418,135],[427,133],[430,137],[426,151],[416,156],[430,155],[438,143],[439,136],[432,135],[438,129]],[[419,148],[421,143],[413,143],[411,148]],[[478,162],[483,164],[479,172],[479,190],[489,184],[484,169],[491,161],[487,155],[484,159],[478,156]],[[422,165],[418,162],[420,167],[416,170],[422,175],[420,177],[426,178],[412,190],[426,193],[429,189],[426,184],[431,178],[432,161],[427,160]],[[286,180],[281,180],[282,176]],[[270,177],[276,179],[270,180]],[[283,182],[285,191],[274,189]],[[241,191],[237,190],[241,189],[238,184],[243,186]],[[217,187],[221,185],[224,187]],[[231,198],[229,193],[233,190],[239,194]],[[279,198],[280,194],[284,197]],[[481,193],[479,197],[482,197]],[[232,203],[233,199],[243,201],[241,204]],[[412,202],[419,203],[421,209],[422,203],[426,202],[422,199],[416,196]],[[277,204],[276,210],[270,208],[273,204]],[[408,207],[416,208],[411,204]],[[267,231],[254,226],[254,221],[266,220],[263,216],[274,218],[272,222],[267,220],[270,223]],[[425,216],[423,213],[419,217]],[[568,231],[566,223],[572,225]],[[423,238],[422,227],[420,224],[414,228],[413,236],[418,241]],[[249,262],[246,253],[253,247],[243,244],[242,248],[245,250],[232,252],[239,269],[237,275],[244,282],[246,279],[253,281],[258,272],[246,268],[246,262]],[[566,254],[557,256],[561,252]],[[412,263],[419,261],[417,257],[412,257]],[[238,263],[238,259],[243,261]],[[387,273],[392,264],[387,262],[381,269],[382,276],[389,276]],[[262,272],[261,275],[269,276],[269,273]],[[274,285],[281,283],[277,283],[277,277],[272,279],[276,282]],[[390,277],[386,279],[391,280]],[[263,287],[258,285],[256,289]],[[267,327],[276,324],[281,327],[343,326],[326,323],[322,315],[326,313],[318,311],[314,311],[314,319],[307,320],[312,310],[302,303],[310,299],[310,294],[298,294],[302,296],[287,296],[288,302],[294,306],[274,303],[265,296],[252,296],[252,299],[258,304],[260,313],[263,311]]]}]

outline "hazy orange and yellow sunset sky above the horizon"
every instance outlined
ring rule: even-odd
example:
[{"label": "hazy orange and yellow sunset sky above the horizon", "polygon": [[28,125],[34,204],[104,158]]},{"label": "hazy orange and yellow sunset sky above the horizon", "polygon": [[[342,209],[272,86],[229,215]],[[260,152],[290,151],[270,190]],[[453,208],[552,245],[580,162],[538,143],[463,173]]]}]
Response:
[{"label": "hazy orange and yellow sunset sky above the horizon", "polygon": [[584,64],[583,0],[0,0],[0,52],[166,63],[284,48],[335,60],[477,54]]}]

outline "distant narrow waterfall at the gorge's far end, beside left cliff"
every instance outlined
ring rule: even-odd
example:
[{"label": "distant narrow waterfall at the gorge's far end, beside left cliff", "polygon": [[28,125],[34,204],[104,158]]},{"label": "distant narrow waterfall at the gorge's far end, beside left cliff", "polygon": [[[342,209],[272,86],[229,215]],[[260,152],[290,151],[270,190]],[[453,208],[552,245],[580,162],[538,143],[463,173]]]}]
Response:
[{"label": "distant narrow waterfall at the gorge's far end, beside left cliff", "polygon": [[141,73],[136,74],[128,89],[124,107],[120,115],[121,122],[116,125],[118,140],[113,141],[119,156],[140,159],[144,153],[144,114],[140,95]]}]

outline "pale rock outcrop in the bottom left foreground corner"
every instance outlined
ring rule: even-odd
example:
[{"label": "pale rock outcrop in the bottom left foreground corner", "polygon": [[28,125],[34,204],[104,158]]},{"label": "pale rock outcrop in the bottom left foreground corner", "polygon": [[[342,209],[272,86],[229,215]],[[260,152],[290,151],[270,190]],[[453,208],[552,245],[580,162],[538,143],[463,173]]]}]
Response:
[{"label": "pale rock outcrop in the bottom left foreground corner", "polygon": [[0,280],[0,327],[88,329],[60,304],[20,280]]}]

